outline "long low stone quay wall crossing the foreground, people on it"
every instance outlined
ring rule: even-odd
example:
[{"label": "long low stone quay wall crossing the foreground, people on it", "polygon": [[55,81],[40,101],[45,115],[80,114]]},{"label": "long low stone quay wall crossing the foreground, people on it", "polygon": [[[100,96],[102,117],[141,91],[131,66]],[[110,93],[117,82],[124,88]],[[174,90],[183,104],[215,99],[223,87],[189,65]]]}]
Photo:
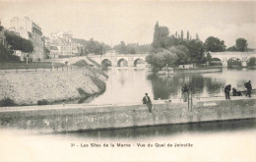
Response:
[{"label": "long low stone quay wall crossing the foreground, people on it", "polygon": [[63,133],[101,129],[200,123],[256,118],[256,98],[194,101],[156,101],[153,113],[146,105],[51,105],[0,108],[0,128],[33,133]]}]

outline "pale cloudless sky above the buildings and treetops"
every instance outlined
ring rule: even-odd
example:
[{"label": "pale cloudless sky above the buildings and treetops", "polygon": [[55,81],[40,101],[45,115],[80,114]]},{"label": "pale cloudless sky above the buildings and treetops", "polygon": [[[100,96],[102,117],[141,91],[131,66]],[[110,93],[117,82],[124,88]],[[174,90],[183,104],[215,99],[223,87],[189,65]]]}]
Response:
[{"label": "pale cloudless sky above the buildings and treetops", "polygon": [[29,17],[44,35],[58,30],[73,37],[94,38],[111,46],[125,43],[152,43],[154,27],[168,27],[170,33],[198,32],[202,41],[209,36],[224,40],[227,47],[243,37],[256,48],[256,2],[192,1],[3,1],[2,26],[13,17]]}]

